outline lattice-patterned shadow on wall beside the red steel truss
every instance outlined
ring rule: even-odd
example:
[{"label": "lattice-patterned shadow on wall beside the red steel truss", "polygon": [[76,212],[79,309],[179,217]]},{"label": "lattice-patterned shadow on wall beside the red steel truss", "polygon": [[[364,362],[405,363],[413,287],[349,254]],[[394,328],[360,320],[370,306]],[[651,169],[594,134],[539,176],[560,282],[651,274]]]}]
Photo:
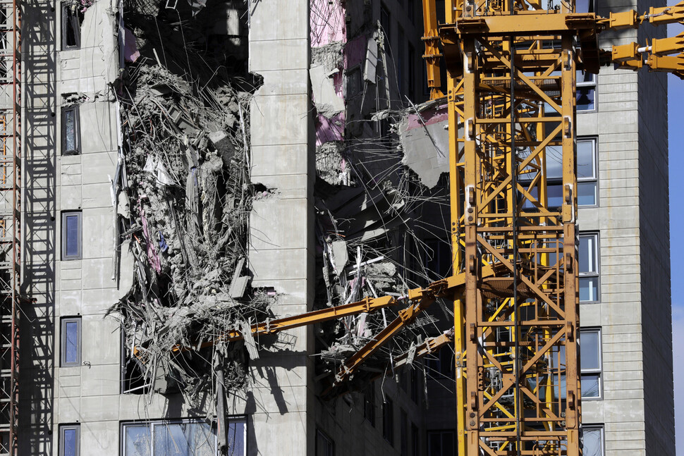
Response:
[{"label": "lattice-patterned shadow on wall beside the red steel truss", "polygon": [[[24,276],[20,320],[20,455],[52,455],[54,411],[55,10],[23,4]],[[27,301],[25,301],[27,302]]]}]

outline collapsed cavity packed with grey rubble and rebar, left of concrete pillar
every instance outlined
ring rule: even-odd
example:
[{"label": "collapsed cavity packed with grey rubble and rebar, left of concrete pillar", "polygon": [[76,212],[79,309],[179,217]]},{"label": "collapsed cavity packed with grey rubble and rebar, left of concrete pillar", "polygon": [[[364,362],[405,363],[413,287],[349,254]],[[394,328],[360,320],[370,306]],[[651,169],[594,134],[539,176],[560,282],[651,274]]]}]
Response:
[{"label": "collapsed cavity packed with grey rubble and rebar, left of concrete pillar", "polygon": [[124,390],[195,400],[245,385],[252,339],[245,348],[220,336],[251,334],[272,300],[250,288],[246,267],[259,190],[248,106],[260,84],[246,70],[247,2],[143,0],[124,11],[118,215],[134,277],[111,309],[129,349]]}]

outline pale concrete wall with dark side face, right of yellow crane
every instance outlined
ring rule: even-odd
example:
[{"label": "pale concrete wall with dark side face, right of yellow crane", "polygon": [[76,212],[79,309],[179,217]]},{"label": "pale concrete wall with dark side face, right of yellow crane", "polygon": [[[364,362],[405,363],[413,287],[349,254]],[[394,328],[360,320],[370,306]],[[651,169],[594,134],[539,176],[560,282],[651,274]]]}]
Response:
[{"label": "pale concrete wall with dark side face, right of yellow crane", "polygon": [[[599,13],[656,2],[611,1]],[[601,48],[645,42],[655,27],[601,35]],[[601,68],[597,111],[578,113],[578,136],[598,137],[599,205],[580,208],[580,233],[599,233],[598,303],[580,304],[601,329],[602,398],[582,422],[602,424],[606,455],[673,455],[667,199],[666,78]]]}]

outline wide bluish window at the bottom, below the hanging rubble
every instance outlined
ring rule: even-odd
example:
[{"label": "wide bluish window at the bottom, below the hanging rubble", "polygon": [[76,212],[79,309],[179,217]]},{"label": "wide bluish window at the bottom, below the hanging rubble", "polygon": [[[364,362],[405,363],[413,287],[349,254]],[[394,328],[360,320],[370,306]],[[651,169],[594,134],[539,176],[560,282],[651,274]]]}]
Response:
[{"label": "wide bluish window at the bottom, below the hanging rubble", "polygon": [[[247,455],[247,420],[228,420],[228,455]],[[205,421],[145,421],[122,425],[123,456],[217,456],[216,427]]]}]

